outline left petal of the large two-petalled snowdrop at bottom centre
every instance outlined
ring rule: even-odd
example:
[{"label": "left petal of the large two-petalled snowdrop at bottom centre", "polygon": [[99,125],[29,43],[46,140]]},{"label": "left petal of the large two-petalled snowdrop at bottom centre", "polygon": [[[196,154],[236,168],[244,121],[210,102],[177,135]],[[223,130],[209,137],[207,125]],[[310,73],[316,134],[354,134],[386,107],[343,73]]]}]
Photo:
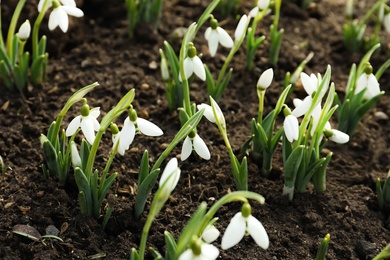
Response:
[{"label": "left petal of the large two-petalled snowdrop at bottom centre", "polygon": [[231,219],[225,230],[225,234],[222,237],[221,248],[226,250],[238,244],[245,235],[245,229],[246,221],[241,212],[238,212]]}]

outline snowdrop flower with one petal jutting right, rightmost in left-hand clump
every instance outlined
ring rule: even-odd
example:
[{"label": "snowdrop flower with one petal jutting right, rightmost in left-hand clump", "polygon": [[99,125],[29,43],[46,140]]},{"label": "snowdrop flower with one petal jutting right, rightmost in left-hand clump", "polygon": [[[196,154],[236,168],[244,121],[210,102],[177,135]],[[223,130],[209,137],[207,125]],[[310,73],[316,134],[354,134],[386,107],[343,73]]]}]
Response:
[{"label": "snowdrop flower with one petal jutting right, rightmost in left-hand clump", "polygon": [[129,149],[129,146],[134,140],[136,134],[142,133],[147,136],[160,136],[163,131],[152,122],[146,119],[139,118],[137,112],[130,106],[129,116],[123,123],[123,128],[118,133],[117,139],[114,143],[119,141],[118,153],[123,155],[125,150]]}]

